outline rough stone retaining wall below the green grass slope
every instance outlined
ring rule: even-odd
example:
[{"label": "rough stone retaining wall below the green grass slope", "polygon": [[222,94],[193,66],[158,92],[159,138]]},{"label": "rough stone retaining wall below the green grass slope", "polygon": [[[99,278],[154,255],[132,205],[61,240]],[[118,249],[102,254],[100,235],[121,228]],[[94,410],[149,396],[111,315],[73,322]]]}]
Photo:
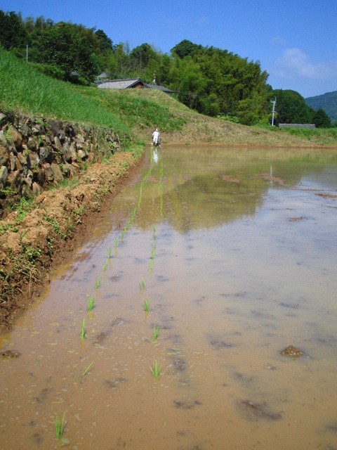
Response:
[{"label": "rough stone retaining wall below the green grass slope", "polygon": [[0,113],[0,217],[6,206],[120,150],[111,129]]}]

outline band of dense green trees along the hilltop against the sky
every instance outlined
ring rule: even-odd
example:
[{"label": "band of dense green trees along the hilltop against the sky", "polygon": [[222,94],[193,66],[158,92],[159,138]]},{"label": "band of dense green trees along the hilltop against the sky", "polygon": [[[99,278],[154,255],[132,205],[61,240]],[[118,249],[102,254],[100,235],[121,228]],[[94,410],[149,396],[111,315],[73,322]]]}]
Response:
[{"label": "band of dense green trees along the hilltop against the sky", "polygon": [[[277,97],[276,123],[312,123],[328,127],[323,110],[315,113],[295,91],[272,91],[260,63],[184,39],[163,54],[144,43],[130,50],[113,44],[103,30],[53,23],[0,11],[0,45],[47,75],[92,83],[101,72],[110,79],[140,77],[173,89],[179,101],[200,113],[242,124],[270,122],[270,100]],[[78,76],[74,76],[78,75]],[[314,120],[315,119],[315,120]]]}]

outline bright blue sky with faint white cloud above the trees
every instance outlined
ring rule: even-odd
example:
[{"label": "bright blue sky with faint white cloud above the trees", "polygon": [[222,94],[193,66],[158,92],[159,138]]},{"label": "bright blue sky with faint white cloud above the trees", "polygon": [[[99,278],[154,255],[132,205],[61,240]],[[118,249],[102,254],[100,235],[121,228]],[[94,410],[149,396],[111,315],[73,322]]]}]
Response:
[{"label": "bright blue sky with faint white cloud above the trees", "polygon": [[3,11],[103,30],[163,53],[183,39],[260,61],[273,89],[337,91],[337,0],[0,0]]}]

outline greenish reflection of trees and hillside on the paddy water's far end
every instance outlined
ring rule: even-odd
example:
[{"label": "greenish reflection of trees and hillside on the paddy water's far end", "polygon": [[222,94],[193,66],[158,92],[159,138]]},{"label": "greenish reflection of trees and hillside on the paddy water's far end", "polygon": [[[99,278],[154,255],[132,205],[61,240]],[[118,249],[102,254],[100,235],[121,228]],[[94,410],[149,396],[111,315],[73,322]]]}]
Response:
[{"label": "greenish reflection of trees and hillside on the paddy water's far end", "polygon": [[271,187],[296,186],[324,172],[327,160],[336,162],[334,155],[298,149],[169,148],[161,158],[164,177],[155,167],[136,226],[164,220],[183,233],[255,214]]}]

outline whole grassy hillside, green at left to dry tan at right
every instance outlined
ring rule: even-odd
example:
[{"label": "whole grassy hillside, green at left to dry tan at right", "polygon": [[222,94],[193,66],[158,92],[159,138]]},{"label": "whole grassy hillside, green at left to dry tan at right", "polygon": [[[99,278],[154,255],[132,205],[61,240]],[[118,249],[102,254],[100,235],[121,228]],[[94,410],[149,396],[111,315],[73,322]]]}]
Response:
[{"label": "whole grassy hillside, green at left to dry tan at right", "polygon": [[0,109],[92,123],[117,131],[124,144],[163,143],[256,146],[337,146],[337,130],[262,129],[200,115],[155,89],[100,90],[61,82],[0,49]]}]

